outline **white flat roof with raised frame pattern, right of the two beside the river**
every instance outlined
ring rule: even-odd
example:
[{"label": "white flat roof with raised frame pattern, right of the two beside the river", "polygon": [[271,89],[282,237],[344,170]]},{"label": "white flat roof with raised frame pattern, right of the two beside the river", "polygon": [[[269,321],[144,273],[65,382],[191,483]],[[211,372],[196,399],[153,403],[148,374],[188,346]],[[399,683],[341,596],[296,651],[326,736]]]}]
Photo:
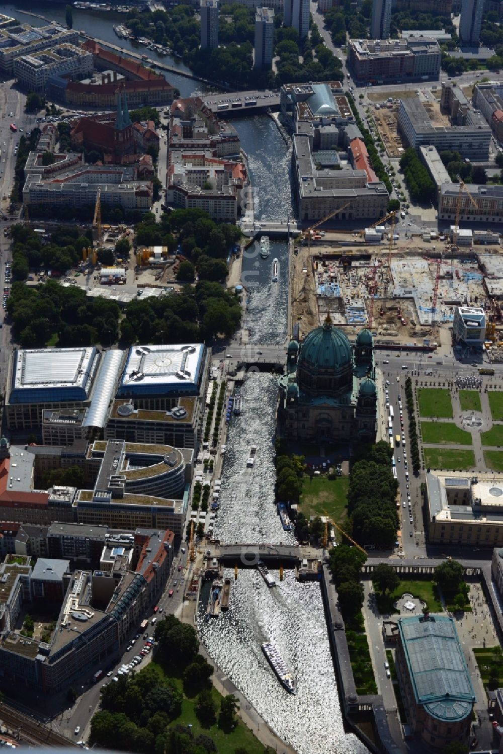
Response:
[{"label": "white flat roof with raised frame pattern, right of the two beside the river", "polygon": [[198,394],[205,350],[201,343],[131,346],[117,397]]}]

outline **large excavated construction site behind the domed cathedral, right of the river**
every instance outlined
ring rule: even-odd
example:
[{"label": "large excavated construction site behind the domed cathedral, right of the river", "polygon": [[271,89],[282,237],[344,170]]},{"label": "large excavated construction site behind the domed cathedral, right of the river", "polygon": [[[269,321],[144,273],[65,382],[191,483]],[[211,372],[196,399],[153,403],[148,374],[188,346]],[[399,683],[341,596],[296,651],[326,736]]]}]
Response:
[{"label": "large excavated construction site behind the domed cathedral, right of the river", "polygon": [[483,253],[479,247],[480,255],[474,247],[443,259],[440,248],[435,253],[431,244],[413,238],[393,247],[390,277],[387,244],[342,246],[342,234],[333,235],[339,243],[325,238],[310,252],[307,245],[296,247],[293,256],[290,314],[301,334],[330,314],[348,337],[370,326],[382,342],[428,344],[435,323],[450,328],[456,306],[489,309],[493,296],[503,298],[498,247],[483,247]]}]

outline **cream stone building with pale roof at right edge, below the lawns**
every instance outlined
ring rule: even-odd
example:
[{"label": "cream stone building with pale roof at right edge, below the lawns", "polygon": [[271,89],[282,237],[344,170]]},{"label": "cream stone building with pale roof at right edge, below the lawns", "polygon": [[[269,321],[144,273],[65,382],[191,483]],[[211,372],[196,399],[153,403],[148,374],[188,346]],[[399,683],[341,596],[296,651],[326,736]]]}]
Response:
[{"label": "cream stone building with pale roof at right edge, below the lawns", "polygon": [[494,472],[426,474],[428,539],[434,544],[501,547],[503,477]]}]

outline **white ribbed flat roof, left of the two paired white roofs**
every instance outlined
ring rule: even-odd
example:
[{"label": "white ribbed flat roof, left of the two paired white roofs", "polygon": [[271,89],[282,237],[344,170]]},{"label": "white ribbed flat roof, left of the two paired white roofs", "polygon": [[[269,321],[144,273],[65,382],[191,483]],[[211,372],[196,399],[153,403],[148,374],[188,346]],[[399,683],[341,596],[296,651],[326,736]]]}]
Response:
[{"label": "white ribbed flat roof, left of the two paired white roofs", "polygon": [[11,403],[87,400],[99,354],[87,348],[19,348],[14,351]]}]

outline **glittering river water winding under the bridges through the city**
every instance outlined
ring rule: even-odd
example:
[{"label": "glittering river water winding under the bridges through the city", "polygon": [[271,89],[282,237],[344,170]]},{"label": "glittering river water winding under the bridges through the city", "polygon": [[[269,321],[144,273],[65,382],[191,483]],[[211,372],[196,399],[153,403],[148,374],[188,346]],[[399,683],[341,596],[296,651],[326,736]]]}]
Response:
[{"label": "glittering river water winding under the bridges through the city", "polygon": [[[0,4],[0,12],[39,26],[44,23],[22,11],[40,13],[64,22],[65,6],[19,2]],[[74,9],[74,28],[91,37],[134,49],[119,40],[112,24],[121,14],[93,14]],[[139,49],[139,48],[136,48]],[[155,53],[149,51],[155,59]],[[179,69],[179,61],[164,60]],[[167,73],[182,97],[204,92],[198,81]],[[235,127],[248,156],[257,220],[293,216],[290,191],[291,146],[284,143],[274,121],[266,115],[237,119]],[[243,256],[243,282],[249,300],[247,327],[253,344],[281,344],[287,339],[288,247],[271,242],[268,259],[261,259],[258,244]],[[279,263],[278,283],[271,280],[273,260]],[[274,438],[278,397],[274,375],[254,373],[244,382],[243,412],[232,419],[228,452],[222,474],[220,510],[215,535],[222,541],[293,543],[284,532],[275,508]],[[256,466],[246,469],[251,445],[259,447]],[[367,749],[352,734],[345,734],[338,688],[330,654],[324,605],[318,584],[299,584],[292,571],[272,572],[277,586],[269,590],[255,570],[240,570],[233,584],[230,607],[218,620],[200,618],[201,637],[214,661],[246,695],[268,725],[299,754],[363,754]],[[233,576],[233,572],[225,572]],[[201,608],[202,609],[202,608]],[[298,685],[296,696],[287,694],[271,672],[260,645],[278,645]]]}]

